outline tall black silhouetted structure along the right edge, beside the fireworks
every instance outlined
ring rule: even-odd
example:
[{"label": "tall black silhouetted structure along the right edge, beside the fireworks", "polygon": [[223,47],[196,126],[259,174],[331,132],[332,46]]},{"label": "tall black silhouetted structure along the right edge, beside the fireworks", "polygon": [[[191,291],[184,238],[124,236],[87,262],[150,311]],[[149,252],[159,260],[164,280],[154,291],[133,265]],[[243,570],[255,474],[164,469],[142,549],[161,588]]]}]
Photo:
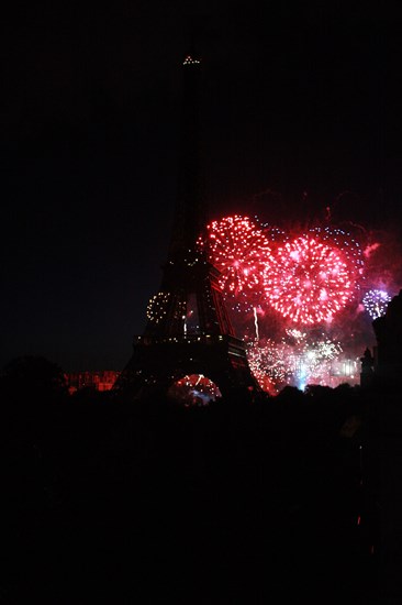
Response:
[{"label": "tall black silhouetted structure along the right edge, beside the fireworks", "polygon": [[381,603],[391,605],[402,603],[402,290],[372,328],[373,356],[361,358],[361,385],[373,387],[367,389],[362,485],[367,536],[379,561]]}]

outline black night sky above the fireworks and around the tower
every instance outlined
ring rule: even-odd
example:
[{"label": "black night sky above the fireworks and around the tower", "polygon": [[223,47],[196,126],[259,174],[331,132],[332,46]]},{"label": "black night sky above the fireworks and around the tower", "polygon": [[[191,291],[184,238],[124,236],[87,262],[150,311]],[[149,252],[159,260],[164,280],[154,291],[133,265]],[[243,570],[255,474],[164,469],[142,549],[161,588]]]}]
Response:
[{"label": "black night sky above the fireworks and around the tower", "polygon": [[211,213],[401,234],[398,2],[13,4],[1,23],[3,365],[120,370],[160,283],[181,62]]}]

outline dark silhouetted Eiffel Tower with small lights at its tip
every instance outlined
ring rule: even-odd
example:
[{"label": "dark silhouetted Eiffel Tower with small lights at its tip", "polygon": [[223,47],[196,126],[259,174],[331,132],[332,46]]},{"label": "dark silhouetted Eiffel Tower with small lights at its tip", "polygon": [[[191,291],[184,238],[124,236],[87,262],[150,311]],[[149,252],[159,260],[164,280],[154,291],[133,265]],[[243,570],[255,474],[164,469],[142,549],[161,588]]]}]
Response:
[{"label": "dark silhouetted Eiffel Tower with small lights at its tip", "polygon": [[197,246],[206,227],[199,161],[201,62],[187,55],[182,69],[179,175],[168,258],[145,331],[134,338],[132,358],[115,384],[132,399],[167,395],[188,376],[209,378],[222,396],[238,388],[259,391],[245,344],[227,315],[220,273]]}]

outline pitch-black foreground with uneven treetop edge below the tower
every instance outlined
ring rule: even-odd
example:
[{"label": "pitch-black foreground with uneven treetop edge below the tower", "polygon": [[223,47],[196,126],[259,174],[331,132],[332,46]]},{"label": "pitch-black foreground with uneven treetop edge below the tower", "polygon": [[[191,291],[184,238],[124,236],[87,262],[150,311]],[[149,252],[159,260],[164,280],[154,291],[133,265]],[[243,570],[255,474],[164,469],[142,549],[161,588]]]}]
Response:
[{"label": "pitch-black foreground with uneven treetop edge below the tower", "polygon": [[381,603],[365,408],[317,395],[10,413],[0,603]]}]

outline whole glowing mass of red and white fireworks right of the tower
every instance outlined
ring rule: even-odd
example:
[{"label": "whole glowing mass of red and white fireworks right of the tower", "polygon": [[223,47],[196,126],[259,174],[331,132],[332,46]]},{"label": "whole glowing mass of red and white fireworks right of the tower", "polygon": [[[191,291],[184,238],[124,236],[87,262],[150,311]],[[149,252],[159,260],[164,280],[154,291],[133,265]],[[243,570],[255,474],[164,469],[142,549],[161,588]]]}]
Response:
[{"label": "whole glowing mass of red and white fireworks right of the tower", "polygon": [[364,308],[372,318],[383,315],[390,300],[382,290],[362,299],[361,289],[367,279],[380,283],[380,270],[381,283],[392,283],[383,271],[388,258],[378,255],[384,246],[372,241],[361,246],[335,227],[287,232],[239,215],[208,226],[198,244],[220,273],[233,326],[245,334],[248,363],[264,391],[359,380],[366,342],[350,324]]}]

